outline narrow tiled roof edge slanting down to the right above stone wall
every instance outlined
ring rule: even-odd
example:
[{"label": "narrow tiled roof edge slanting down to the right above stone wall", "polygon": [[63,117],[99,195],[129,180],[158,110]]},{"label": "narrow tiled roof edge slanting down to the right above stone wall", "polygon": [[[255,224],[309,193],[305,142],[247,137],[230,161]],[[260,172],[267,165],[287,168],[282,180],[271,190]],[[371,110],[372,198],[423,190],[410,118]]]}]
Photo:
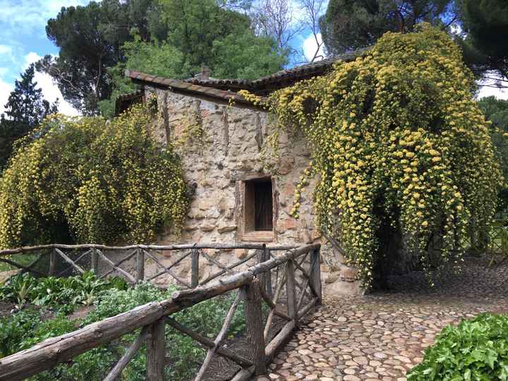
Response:
[{"label": "narrow tiled roof edge slanting down to the right above stone wall", "polygon": [[207,97],[224,99],[226,101],[233,100],[234,102],[250,104],[250,102],[247,99],[245,99],[238,93],[229,90],[220,90],[213,87],[205,87],[202,85],[188,83],[183,80],[157,77],[155,75],[140,73],[138,71],[126,70],[125,75],[126,77],[131,78],[134,82],[138,83],[151,83],[153,85],[157,85],[160,87],[169,87],[173,90],[178,90],[180,92],[192,92],[194,94],[197,93],[200,95],[205,95]]}]

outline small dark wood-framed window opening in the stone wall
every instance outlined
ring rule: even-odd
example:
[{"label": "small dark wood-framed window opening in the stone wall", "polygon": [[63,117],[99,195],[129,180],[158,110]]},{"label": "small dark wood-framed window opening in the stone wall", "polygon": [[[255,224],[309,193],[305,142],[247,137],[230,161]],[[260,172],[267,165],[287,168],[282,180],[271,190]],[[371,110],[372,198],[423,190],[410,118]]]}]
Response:
[{"label": "small dark wood-framed window opening in the stone wall", "polygon": [[245,189],[245,230],[272,231],[272,180],[267,178],[246,181]]}]

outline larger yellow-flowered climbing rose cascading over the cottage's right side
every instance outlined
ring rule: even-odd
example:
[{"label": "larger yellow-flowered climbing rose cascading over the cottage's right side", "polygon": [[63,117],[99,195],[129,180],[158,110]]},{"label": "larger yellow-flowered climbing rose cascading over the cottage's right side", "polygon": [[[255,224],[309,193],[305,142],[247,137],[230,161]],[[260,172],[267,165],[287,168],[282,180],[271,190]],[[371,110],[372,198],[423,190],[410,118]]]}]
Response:
[{"label": "larger yellow-flowered climbing rose cascading over the cottage's right side", "polygon": [[471,218],[482,224],[492,217],[500,169],[473,89],[459,48],[424,24],[405,35],[389,32],[356,61],[265,102],[279,126],[300,129],[313,147],[292,214],[298,217],[309,177],[319,176],[317,224],[341,243],[365,286],[383,260],[386,226],[429,270],[434,234],[443,236],[438,262],[456,263],[449,249]]}]

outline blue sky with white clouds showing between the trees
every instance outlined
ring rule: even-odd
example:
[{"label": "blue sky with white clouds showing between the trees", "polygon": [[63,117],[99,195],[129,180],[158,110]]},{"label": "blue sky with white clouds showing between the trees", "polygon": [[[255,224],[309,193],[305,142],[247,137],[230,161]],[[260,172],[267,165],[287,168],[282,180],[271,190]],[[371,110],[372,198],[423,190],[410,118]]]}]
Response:
[{"label": "blue sky with white clouds showing between the trees", "polygon": [[[20,73],[44,54],[58,54],[58,48],[46,37],[47,20],[55,17],[62,6],[85,5],[88,2],[90,0],[0,0],[0,113]],[[315,49],[315,42],[308,31],[298,35],[295,41],[309,54]],[[35,79],[46,99],[50,102],[60,99],[61,112],[77,113],[63,101],[49,75],[37,73]],[[508,92],[488,87],[484,87],[481,93],[491,94],[508,98]]]}]

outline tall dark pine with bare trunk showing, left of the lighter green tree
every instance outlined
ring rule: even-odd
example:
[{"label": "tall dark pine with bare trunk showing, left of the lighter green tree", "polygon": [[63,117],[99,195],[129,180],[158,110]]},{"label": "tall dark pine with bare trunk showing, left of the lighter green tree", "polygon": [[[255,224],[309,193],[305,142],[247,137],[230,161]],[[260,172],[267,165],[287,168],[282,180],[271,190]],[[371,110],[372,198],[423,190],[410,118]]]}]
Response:
[{"label": "tall dark pine with bare trunk showing, left of the lighter green tree", "polygon": [[59,56],[45,56],[37,70],[52,75],[64,99],[83,114],[95,114],[101,99],[111,95],[107,68],[123,61],[121,46],[131,40],[131,29],[150,40],[164,37],[158,22],[157,0],[103,0],[87,6],[61,8],[48,21],[49,40],[60,48]]}]

